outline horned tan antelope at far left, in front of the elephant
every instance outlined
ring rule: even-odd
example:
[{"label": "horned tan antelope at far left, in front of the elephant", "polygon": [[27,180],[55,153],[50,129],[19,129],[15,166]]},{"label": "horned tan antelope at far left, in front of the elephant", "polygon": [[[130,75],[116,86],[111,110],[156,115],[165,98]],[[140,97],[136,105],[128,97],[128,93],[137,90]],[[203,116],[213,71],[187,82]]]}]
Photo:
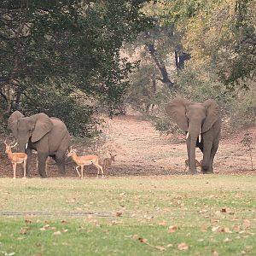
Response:
[{"label": "horned tan antelope at far left, in front of the elephant", "polygon": [[13,141],[13,143],[15,143],[15,145],[13,145],[13,146],[11,146],[11,143],[10,144],[6,143],[6,139],[3,143],[6,146],[5,153],[8,155],[8,158],[9,158],[9,160],[11,161],[11,163],[13,165],[14,178],[16,178],[16,166],[17,166],[17,164],[22,164],[22,163],[24,165],[24,176],[23,177],[26,177],[27,154],[26,153],[12,153],[11,148],[15,148],[15,146],[17,145],[17,143],[15,143],[15,140]]}]

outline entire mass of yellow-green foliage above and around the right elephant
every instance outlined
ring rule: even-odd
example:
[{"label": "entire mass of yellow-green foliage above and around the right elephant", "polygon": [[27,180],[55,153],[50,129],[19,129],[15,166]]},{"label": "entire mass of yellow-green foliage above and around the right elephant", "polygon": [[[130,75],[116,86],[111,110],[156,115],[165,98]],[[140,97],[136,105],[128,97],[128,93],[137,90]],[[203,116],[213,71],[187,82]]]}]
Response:
[{"label": "entire mass of yellow-green foliage above and around the right elephant", "polygon": [[[176,92],[166,93],[165,86],[157,84],[155,95],[148,96],[148,102],[157,106],[151,116],[157,129],[165,131],[167,124],[172,125],[163,113],[163,104],[177,95],[195,102],[214,99],[222,109],[224,128],[229,131],[254,124],[254,9],[255,2],[251,0],[150,2],[146,14],[156,17],[159,26],[154,28],[159,30],[158,35],[164,27],[172,27],[172,47],[164,44],[165,37],[157,38],[158,46],[165,45],[164,62],[174,59],[175,49],[192,56],[176,77],[172,74]],[[174,65],[168,68],[172,70]],[[166,131],[176,132],[172,127]]]}]

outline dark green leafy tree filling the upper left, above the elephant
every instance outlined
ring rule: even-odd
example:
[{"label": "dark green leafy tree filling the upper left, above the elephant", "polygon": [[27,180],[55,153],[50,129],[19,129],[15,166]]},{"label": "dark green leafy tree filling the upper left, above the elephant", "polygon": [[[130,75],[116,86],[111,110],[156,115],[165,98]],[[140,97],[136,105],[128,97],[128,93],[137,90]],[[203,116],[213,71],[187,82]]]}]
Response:
[{"label": "dark green leafy tree filling the upper left, above the elephant", "polygon": [[[111,111],[124,95],[133,68],[120,57],[119,49],[149,25],[140,11],[143,2],[3,0],[2,115],[21,108],[25,112],[55,112],[50,111],[55,106],[49,102],[49,92],[63,108],[69,100],[81,106],[77,95],[83,93],[90,102],[107,102]],[[73,113],[77,120],[83,114]]]}]

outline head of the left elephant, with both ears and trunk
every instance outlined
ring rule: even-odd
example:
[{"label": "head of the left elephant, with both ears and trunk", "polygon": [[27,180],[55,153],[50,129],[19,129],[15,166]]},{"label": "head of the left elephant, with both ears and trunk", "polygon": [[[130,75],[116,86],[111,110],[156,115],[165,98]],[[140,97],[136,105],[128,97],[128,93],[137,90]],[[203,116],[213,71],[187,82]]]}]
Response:
[{"label": "head of the left elephant, with both ears and trunk", "polygon": [[29,139],[32,143],[36,143],[53,127],[52,121],[45,113],[24,117],[19,111],[10,115],[8,124],[19,143],[21,152],[25,152]]}]

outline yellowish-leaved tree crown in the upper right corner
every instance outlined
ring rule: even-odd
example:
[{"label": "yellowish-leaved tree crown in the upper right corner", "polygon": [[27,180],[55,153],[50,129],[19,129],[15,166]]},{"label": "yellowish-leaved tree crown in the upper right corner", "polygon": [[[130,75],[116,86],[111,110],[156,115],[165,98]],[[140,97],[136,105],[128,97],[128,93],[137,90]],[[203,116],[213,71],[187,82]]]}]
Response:
[{"label": "yellowish-leaved tree crown in the upper right corner", "polygon": [[255,2],[191,1],[178,15],[183,46],[193,61],[211,63],[219,79],[230,89],[248,88],[255,80]]}]

